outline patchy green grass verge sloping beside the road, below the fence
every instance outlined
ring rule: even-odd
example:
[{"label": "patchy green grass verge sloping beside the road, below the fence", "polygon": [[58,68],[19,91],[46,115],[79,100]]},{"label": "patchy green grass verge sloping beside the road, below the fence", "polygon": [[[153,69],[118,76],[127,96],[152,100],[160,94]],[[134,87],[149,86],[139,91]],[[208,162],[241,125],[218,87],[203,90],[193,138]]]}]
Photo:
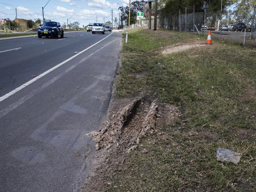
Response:
[{"label": "patchy green grass verge sloping beside the road, below the fence", "polygon": [[[129,31],[117,93],[157,92],[183,114],[128,155],[112,191],[255,191],[256,51],[214,42],[172,54],[161,51],[205,39],[170,31]],[[144,74],[140,77],[138,74]],[[238,165],[216,160],[217,148],[241,153]],[[147,149],[148,153],[143,153]]]}]

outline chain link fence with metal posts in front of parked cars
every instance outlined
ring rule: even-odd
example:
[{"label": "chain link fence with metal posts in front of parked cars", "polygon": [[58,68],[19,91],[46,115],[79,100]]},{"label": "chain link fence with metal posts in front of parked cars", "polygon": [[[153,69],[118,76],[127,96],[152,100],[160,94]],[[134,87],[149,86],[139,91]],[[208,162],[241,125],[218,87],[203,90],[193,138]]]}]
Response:
[{"label": "chain link fence with metal posts in front of parked cars", "polygon": [[[201,12],[192,13],[188,13],[184,7],[183,10],[176,11],[174,15],[163,13],[160,10],[157,17],[157,27],[177,32],[194,32],[205,36],[211,30],[211,35],[216,39],[256,47],[256,7],[250,7],[250,10],[253,10],[252,17],[242,17],[239,22],[235,21],[234,15],[229,11],[207,11],[203,7],[196,7],[196,10],[201,8]],[[148,23],[148,20],[144,21],[144,26],[148,26]],[[238,23],[243,23],[244,26],[239,28],[236,25]],[[151,25],[154,25],[153,19]]]}]

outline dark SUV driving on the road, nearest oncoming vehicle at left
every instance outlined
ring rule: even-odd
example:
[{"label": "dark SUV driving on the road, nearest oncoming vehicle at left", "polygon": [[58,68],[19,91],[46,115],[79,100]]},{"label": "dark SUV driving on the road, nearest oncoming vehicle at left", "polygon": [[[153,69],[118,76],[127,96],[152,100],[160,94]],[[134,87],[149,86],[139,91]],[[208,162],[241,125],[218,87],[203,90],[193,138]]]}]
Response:
[{"label": "dark SUV driving on the road, nearest oncoming vehicle at left", "polygon": [[38,38],[42,38],[42,36],[58,38],[59,35],[61,38],[63,38],[64,30],[62,26],[60,26],[59,22],[48,21],[44,22],[43,25],[40,25],[37,30],[37,35]]}]

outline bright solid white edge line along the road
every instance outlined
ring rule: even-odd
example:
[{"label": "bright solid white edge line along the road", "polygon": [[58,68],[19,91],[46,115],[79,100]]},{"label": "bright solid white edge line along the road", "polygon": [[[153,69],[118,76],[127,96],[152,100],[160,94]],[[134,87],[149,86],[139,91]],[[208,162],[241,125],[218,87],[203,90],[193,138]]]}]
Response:
[{"label": "bright solid white edge line along the road", "polygon": [[[112,34],[113,34],[113,33],[112,33]],[[110,35],[112,35],[112,34],[110,34]],[[110,35],[108,35],[107,37],[109,37]],[[60,64],[58,64],[58,65],[52,67],[51,69],[45,71],[44,73],[38,75],[37,77],[33,78],[32,80],[30,80],[30,81],[24,83],[22,86],[19,86],[18,88],[14,89],[13,91],[11,91],[11,92],[9,92],[9,93],[3,95],[2,97],[0,97],[0,102],[1,102],[1,101],[4,101],[4,99],[10,97],[10,96],[13,95],[14,93],[17,93],[18,91],[20,91],[21,89],[25,88],[26,86],[32,84],[33,82],[35,82],[35,81],[38,80],[39,78],[41,78],[41,77],[47,75],[48,73],[50,73],[50,72],[53,71],[54,69],[57,69],[58,67],[60,67],[60,66],[64,65],[65,63],[69,62],[70,60],[72,60],[73,58],[75,58],[75,57],[77,57],[78,55],[82,54],[82,53],[85,52],[86,50],[88,50],[88,49],[92,48],[93,46],[97,45],[98,43],[100,43],[101,41],[103,41],[104,39],[106,39],[107,37],[101,39],[101,40],[98,41],[97,43],[94,43],[94,44],[91,45],[90,47],[88,47],[88,48],[82,50],[81,52],[79,52],[79,53],[77,53],[77,54],[75,54],[74,56],[72,56],[71,58],[65,60],[64,62],[61,62]]]}]

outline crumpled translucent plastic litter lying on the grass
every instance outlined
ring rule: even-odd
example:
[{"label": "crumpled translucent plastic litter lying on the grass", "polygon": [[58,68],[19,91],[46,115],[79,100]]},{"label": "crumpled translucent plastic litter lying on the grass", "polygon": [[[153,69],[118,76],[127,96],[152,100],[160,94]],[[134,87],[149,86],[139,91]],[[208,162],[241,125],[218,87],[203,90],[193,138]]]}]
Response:
[{"label": "crumpled translucent plastic litter lying on the grass", "polygon": [[236,153],[235,151],[229,150],[229,149],[224,149],[224,148],[219,148],[217,149],[217,160],[219,161],[226,161],[226,162],[232,162],[234,164],[238,164],[241,158],[240,153]]}]

